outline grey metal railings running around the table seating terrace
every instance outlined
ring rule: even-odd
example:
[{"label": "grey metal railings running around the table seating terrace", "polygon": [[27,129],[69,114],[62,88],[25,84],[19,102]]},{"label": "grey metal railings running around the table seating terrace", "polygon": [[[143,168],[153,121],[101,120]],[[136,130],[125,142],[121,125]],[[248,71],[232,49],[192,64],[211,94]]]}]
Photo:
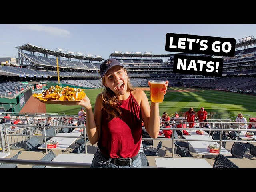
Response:
[{"label": "grey metal railings running around the table seating terrace", "polygon": [[[177,123],[177,122],[176,122]],[[189,123],[189,122],[183,122],[183,123]],[[230,124],[230,122],[211,122],[211,123],[217,123],[217,124]],[[234,122],[235,124],[235,122]],[[236,124],[240,124],[239,122],[237,122]],[[247,124],[255,124],[253,122],[248,122]],[[9,139],[8,136],[17,136],[17,137],[22,137],[21,134],[9,134],[8,133],[8,127],[12,126],[12,124],[0,124],[0,128],[4,128],[5,132],[3,133],[2,131],[0,132],[0,142],[1,142],[1,147],[2,147],[2,152],[5,152],[5,148],[8,149],[8,152],[10,152],[10,146],[9,146]],[[22,128],[27,128],[27,129],[31,129],[33,128],[30,125],[19,125]],[[45,126],[36,126],[36,127],[41,127],[44,130],[45,133]],[[81,126],[54,126],[55,129],[57,128],[64,128],[64,127],[72,127],[72,128],[84,128]],[[224,126],[225,127],[225,126]],[[142,128],[145,129],[145,128]],[[220,131],[220,140],[200,140],[200,139],[184,139],[184,138],[142,138],[142,140],[167,140],[167,141],[171,141],[172,142],[172,158],[174,158],[174,141],[178,140],[178,141],[209,141],[209,142],[219,142],[219,148],[221,148],[222,146],[222,142],[244,142],[242,140],[222,140],[222,132],[223,131],[247,131],[247,132],[255,132],[256,130],[254,129],[240,129],[238,127],[238,129],[232,129],[232,128],[210,128],[210,129],[205,129],[205,128],[161,128],[162,130],[207,130],[209,131],[209,137],[210,137],[210,133],[211,131]],[[182,131],[181,131],[182,132]],[[183,134],[183,132],[182,132]],[[4,140],[4,138],[7,136],[6,140]],[[86,138],[88,138],[86,136],[86,131],[85,131],[85,136],[50,136],[50,135],[33,135],[33,134],[27,134],[27,137],[32,137],[32,136],[40,136],[40,137],[44,137],[44,143],[46,144],[46,137],[67,137],[67,138],[84,138],[86,140]],[[7,142],[7,146],[4,145]],[[256,143],[256,140],[247,140],[246,142],[248,143]],[[85,153],[87,154],[87,144],[85,142]],[[46,153],[47,153],[47,149],[46,149]],[[219,151],[220,153],[220,151]],[[26,165],[42,165],[42,166],[61,166],[61,167],[73,167],[73,168],[88,168],[90,167],[90,164],[86,164],[86,163],[72,163],[72,162],[43,162],[40,160],[15,160],[15,159],[4,159],[4,158],[0,158],[0,163],[15,163],[15,164],[26,164]],[[148,167],[150,168],[150,167]]]}]

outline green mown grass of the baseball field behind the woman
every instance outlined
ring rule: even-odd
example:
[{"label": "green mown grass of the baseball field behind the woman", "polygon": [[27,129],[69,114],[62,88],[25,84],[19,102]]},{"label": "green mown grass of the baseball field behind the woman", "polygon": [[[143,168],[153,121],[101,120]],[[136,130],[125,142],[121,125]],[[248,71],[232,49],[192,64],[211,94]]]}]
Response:
[{"label": "green mown grass of the baseball field behind the woman", "polygon": [[[237,116],[238,113],[256,117],[256,96],[197,88],[195,90],[198,91],[194,92],[186,91],[187,88],[175,87],[174,89],[183,91],[173,92],[173,88],[170,88],[171,91],[164,96],[164,102],[159,104],[161,115],[163,112],[167,112],[170,116],[174,116],[175,112],[186,112],[190,107],[197,112],[201,107],[204,107],[208,114],[214,114],[215,118],[233,117]],[[85,90],[93,108],[96,96],[100,91],[101,89]],[[150,101],[150,92],[145,91],[145,93]],[[76,116],[80,111],[80,106],[46,104],[46,111],[47,113],[58,112]],[[248,116],[244,117],[249,121]]]}]

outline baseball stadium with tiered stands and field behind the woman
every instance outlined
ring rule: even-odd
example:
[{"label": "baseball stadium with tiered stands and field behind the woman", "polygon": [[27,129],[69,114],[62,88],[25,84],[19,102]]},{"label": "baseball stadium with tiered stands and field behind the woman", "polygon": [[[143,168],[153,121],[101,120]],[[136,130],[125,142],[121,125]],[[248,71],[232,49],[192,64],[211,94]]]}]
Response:
[{"label": "baseball stadium with tiered stands and field behind the woman", "polygon": [[[13,117],[18,115],[21,119],[26,119],[25,115],[29,115],[34,118],[33,124],[44,126],[40,123],[51,115],[56,117],[56,121],[59,119],[64,121],[64,123],[58,122],[57,128],[77,120],[80,106],[44,104],[32,97],[34,92],[42,92],[59,83],[61,86],[85,89],[94,106],[96,96],[101,92],[102,87],[100,64],[106,58],[61,48],[53,51],[29,43],[15,48],[18,50],[17,58],[0,58],[1,118],[7,113]],[[190,107],[195,111],[204,107],[208,112],[208,119],[213,120],[229,118],[234,121],[238,113],[244,114],[248,122],[256,117],[254,36],[237,41],[234,57],[176,54],[223,58],[222,77],[174,73],[172,69],[175,54],[113,51],[109,54],[109,58],[115,58],[125,66],[132,86],[143,89],[149,101],[148,81],[169,81],[164,102],[159,106],[160,116],[163,112],[167,112],[170,117],[174,117],[175,112],[184,116]],[[154,142],[158,143],[158,140]],[[12,147],[16,148],[16,146]],[[26,147],[22,145],[22,148]]]}]

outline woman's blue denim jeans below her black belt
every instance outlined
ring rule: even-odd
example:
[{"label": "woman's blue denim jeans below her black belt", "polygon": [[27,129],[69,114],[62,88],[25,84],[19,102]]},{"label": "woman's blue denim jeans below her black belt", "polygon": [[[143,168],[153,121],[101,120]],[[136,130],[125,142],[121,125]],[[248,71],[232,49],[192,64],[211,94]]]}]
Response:
[{"label": "woman's blue denim jeans below her black belt", "polygon": [[140,154],[138,157],[132,162],[132,166],[117,166],[111,163],[112,158],[105,158],[101,153],[97,152],[94,154],[94,158],[92,160],[91,168],[141,168],[141,160]]}]

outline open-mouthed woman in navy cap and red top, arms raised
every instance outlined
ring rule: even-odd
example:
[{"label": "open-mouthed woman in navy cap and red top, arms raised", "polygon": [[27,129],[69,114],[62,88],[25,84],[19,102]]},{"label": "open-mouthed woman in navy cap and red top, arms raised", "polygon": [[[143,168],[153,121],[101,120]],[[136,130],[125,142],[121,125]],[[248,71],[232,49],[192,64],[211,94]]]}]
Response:
[{"label": "open-mouthed woman in navy cap and red top, arms raised", "polygon": [[[140,168],[141,122],[150,137],[158,137],[159,103],[151,102],[150,108],[145,92],[132,88],[127,70],[116,59],[102,62],[100,76],[103,88],[96,98],[94,113],[87,96],[77,103],[86,109],[88,139],[98,145],[91,168]],[[167,86],[168,81],[164,94]]]}]

